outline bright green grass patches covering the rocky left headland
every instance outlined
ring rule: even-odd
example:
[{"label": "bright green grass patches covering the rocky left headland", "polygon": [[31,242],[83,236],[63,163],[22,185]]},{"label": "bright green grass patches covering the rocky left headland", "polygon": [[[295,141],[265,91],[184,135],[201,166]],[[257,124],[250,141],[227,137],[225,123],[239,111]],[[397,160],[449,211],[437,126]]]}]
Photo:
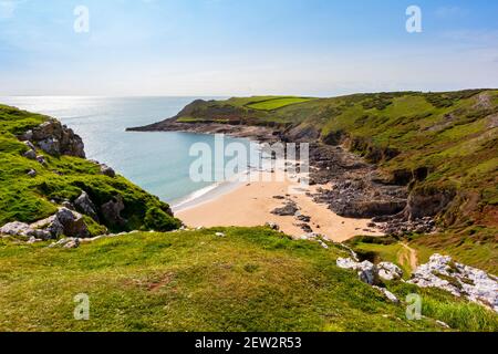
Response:
[{"label": "bright green grass patches covering the rocky left headland", "polygon": [[[50,200],[74,200],[85,190],[96,205],[121,195],[126,206],[122,215],[128,220],[125,230],[155,228],[157,222],[146,218],[146,214],[153,211],[159,214],[164,230],[178,227],[177,220],[160,211],[168,209],[166,204],[121,176],[111,178],[100,174],[100,167],[89,160],[43,154],[48,162],[44,167],[22,157],[28,148],[15,135],[46,119],[49,117],[43,115],[0,105],[0,226],[15,220],[33,222],[49,217],[58,207]],[[37,170],[35,178],[27,175],[29,169]],[[86,219],[94,235],[103,231],[102,226]]]}]

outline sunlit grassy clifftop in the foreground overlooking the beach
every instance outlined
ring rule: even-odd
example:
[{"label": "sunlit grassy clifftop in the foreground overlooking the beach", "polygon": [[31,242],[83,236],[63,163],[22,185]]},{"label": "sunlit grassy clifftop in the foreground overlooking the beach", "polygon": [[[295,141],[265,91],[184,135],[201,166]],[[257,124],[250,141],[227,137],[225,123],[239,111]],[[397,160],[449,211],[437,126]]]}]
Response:
[{"label": "sunlit grassy clifftop in the foreground overlooking the beach", "polygon": [[[226,232],[225,238],[215,236]],[[292,241],[266,228],[135,233],[80,249],[0,241],[0,330],[28,331],[438,331],[498,330],[492,312],[437,291],[422,321],[385,301],[353,272],[343,251]],[[73,296],[90,295],[90,321]]]}]

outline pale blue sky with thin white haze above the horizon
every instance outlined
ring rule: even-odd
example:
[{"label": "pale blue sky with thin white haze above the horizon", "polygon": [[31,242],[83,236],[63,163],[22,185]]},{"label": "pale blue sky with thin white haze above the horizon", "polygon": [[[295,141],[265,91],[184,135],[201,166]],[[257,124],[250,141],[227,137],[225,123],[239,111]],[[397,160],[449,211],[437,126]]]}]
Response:
[{"label": "pale blue sky with thin white haze above the horizon", "polygon": [[498,87],[498,1],[0,0],[0,95],[464,87]]}]

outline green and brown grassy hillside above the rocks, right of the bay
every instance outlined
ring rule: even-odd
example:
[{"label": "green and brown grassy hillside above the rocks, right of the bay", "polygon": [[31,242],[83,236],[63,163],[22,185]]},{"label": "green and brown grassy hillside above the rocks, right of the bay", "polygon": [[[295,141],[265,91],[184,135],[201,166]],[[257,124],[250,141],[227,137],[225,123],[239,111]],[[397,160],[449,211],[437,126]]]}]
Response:
[{"label": "green and brown grassy hillside above the rocks, right of the bay", "polygon": [[[268,100],[278,97],[230,98],[209,106],[245,107],[237,119],[246,117],[248,124],[313,127],[325,140],[347,136],[351,148],[376,162],[387,178],[400,170],[427,168],[427,178],[411,188],[455,190],[457,199],[440,218],[452,228],[415,243],[497,272],[498,91],[355,94],[271,112],[248,108]],[[198,113],[196,118],[204,111]],[[387,149],[398,155],[383,158]]]}]

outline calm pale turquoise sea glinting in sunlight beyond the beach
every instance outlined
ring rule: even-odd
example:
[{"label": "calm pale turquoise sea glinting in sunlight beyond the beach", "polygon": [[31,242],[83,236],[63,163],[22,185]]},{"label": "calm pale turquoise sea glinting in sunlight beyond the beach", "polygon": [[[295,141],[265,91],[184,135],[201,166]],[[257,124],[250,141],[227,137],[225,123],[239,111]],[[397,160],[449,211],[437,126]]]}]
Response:
[{"label": "calm pale turquoise sea glinting in sunlight beyond the beach", "polygon": [[[162,200],[177,205],[211,183],[194,183],[189,168],[190,146],[214,146],[210,135],[189,133],[132,133],[142,126],[176,115],[199,97],[0,97],[0,102],[59,118],[81,135],[87,158],[108,164]],[[246,139],[227,138],[227,142]]]}]

